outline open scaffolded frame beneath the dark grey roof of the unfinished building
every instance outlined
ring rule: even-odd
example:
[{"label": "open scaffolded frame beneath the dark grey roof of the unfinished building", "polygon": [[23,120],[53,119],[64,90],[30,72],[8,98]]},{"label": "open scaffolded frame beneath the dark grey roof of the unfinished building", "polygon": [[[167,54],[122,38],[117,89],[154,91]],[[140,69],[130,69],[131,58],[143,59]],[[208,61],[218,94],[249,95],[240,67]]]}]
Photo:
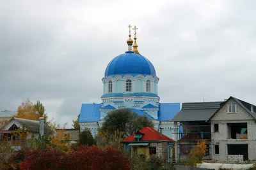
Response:
[{"label": "open scaffolded frame beneath the dark grey roof of the unfinished building", "polygon": [[[177,160],[182,160],[188,156],[198,141],[204,140],[207,146],[207,153],[204,160],[211,160],[211,123],[207,121],[184,121],[174,122],[176,136]],[[182,127],[182,131],[180,131]]]}]

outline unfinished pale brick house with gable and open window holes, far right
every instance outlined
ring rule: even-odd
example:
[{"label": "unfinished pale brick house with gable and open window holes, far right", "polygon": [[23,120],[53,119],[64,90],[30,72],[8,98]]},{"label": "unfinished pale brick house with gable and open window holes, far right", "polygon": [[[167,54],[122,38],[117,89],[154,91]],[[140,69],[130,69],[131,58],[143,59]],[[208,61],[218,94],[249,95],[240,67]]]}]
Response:
[{"label": "unfinished pale brick house with gable and open window holes, far right", "polygon": [[213,160],[256,159],[256,107],[229,97],[211,117]]}]

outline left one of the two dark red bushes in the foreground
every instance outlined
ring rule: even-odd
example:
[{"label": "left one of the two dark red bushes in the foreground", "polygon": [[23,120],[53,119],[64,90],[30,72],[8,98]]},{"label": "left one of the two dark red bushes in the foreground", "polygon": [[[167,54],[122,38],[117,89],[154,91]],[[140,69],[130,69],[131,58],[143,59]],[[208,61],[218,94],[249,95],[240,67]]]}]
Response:
[{"label": "left one of the two dark red bushes in the foreground", "polygon": [[26,154],[25,162],[20,163],[20,169],[59,169],[65,156],[66,154],[60,150],[34,150]]}]

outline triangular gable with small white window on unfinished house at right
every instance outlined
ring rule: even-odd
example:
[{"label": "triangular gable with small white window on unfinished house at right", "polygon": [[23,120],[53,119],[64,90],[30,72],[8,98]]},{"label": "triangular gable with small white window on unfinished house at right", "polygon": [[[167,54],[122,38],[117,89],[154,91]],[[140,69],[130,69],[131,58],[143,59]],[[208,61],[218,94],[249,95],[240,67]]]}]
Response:
[{"label": "triangular gable with small white window on unfinished house at right", "polygon": [[[230,104],[236,104],[236,113],[228,113],[228,105]],[[248,111],[244,110],[243,106],[230,98],[227,103],[225,103],[224,106],[222,106],[211,118],[211,121],[223,120],[254,120],[254,118],[248,113]]]}]

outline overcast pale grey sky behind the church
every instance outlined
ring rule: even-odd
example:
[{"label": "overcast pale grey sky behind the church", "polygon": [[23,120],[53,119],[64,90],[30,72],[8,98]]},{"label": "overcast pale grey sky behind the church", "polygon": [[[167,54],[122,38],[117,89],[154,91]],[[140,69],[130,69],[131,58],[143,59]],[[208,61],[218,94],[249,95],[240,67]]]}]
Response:
[{"label": "overcast pale grey sky behind the church", "polygon": [[[157,2],[157,3],[156,3]],[[40,100],[68,122],[100,103],[108,62],[127,25],[159,77],[161,103],[256,104],[256,1],[0,0],[0,110]]]}]

